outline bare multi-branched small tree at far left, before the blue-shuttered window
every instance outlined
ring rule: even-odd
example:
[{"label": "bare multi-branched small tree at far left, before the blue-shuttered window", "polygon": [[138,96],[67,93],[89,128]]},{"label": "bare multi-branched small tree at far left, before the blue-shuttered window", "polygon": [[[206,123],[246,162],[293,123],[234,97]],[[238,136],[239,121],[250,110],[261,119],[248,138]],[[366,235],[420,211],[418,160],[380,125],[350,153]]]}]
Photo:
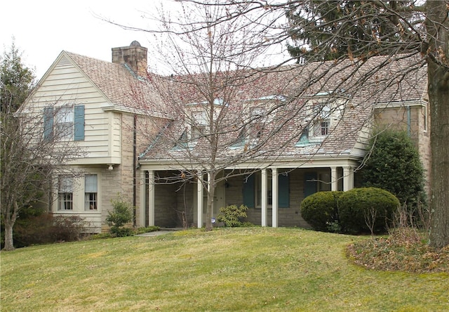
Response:
[{"label": "bare multi-branched small tree at far left, before the blue-shuttered window", "polygon": [[[6,89],[2,92],[8,93]],[[74,176],[76,169],[64,164],[82,155],[72,136],[73,124],[67,114],[73,107],[48,105],[42,112],[27,108],[14,112],[15,94],[8,93],[1,103],[1,215],[5,225],[4,250],[13,250],[13,227],[22,209],[32,204],[51,204],[51,193],[58,188],[55,176]],[[43,126],[51,119],[51,127]],[[53,129],[54,127],[54,129]],[[75,186],[64,186],[74,188]]]}]

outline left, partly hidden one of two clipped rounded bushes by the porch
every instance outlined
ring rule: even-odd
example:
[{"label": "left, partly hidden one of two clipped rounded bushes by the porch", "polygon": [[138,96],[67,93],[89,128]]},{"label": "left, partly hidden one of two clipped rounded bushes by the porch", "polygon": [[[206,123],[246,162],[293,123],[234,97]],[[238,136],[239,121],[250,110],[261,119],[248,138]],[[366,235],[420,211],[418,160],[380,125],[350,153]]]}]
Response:
[{"label": "left, partly hidden one of two clipped rounded bushes by the porch", "polygon": [[[301,216],[314,228],[323,232],[334,232],[331,225],[337,222],[337,199],[343,192],[318,192],[301,202]],[[335,228],[335,226],[334,226]]]}]

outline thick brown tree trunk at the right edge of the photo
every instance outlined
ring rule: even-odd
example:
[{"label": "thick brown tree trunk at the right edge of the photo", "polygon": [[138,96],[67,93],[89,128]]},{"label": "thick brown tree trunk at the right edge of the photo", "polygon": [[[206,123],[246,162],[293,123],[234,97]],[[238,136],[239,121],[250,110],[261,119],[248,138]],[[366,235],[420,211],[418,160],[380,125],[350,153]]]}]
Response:
[{"label": "thick brown tree trunk at the right edge of the photo", "polygon": [[427,1],[429,34],[428,93],[431,122],[431,247],[449,245],[449,70],[448,9],[444,1]]}]

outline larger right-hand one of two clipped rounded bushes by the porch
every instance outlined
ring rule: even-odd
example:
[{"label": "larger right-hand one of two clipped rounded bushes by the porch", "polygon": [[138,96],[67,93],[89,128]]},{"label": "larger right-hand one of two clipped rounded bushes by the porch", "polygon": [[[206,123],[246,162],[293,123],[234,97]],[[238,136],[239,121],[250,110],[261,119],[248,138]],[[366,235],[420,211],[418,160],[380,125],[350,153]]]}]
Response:
[{"label": "larger right-hand one of two clipped rounded bushes by the porch", "polygon": [[354,188],[337,200],[338,217],[344,233],[386,230],[400,205],[396,196],[381,188]]}]

